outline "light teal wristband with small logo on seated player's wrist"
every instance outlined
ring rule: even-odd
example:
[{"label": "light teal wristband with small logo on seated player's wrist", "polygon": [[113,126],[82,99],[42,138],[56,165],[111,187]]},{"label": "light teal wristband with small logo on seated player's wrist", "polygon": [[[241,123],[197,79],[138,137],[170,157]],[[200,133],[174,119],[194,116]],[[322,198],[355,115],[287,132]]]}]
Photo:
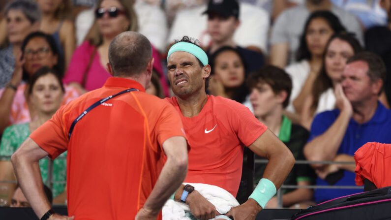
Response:
[{"label": "light teal wristband with small logo on seated player's wrist", "polygon": [[257,201],[263,209],[265,208],[266,203],[269,202],[271,197],[273,197],[276,192],[277,190],[275,189],[273,182],[262,178],[261,181],[259,181],[258,186],[254,189],[248,198],[252,198]]}]

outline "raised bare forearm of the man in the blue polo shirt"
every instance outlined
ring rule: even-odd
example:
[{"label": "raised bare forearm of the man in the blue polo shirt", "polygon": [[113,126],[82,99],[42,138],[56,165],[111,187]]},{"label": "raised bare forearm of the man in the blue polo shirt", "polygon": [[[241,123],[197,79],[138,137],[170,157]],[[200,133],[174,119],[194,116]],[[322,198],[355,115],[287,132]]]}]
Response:
[{"label": "raised bare forearm of the man in the blue polo shirt", "polygon": [[[304,146],[305,157],[312,161],[333,160],[341,145],[349,121],[350,115],[342,111],[329,129]],[[319,166],[319,164],[313,164],[315,168]]]}]

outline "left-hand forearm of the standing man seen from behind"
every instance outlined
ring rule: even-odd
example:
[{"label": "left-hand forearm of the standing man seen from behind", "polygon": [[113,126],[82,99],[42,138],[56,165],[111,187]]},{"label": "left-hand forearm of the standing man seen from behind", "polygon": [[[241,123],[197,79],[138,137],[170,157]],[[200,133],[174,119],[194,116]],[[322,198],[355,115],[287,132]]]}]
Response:
[{"label": "left-hand forearm of the standing man seen from behind", "polygon": [[24,152],[16,152],[11,161],[20,187],[40,219],[51,206],[43,190],[38,160],[32,161]]}]

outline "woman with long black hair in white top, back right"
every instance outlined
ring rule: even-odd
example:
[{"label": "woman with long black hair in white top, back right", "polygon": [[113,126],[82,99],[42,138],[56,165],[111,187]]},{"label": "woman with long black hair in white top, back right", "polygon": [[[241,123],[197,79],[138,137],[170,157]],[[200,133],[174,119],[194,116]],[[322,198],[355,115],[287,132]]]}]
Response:
[{"label": "woman with long black hair in white top, back right", "polygon": [[326,44],[334,33],[345,31],[330,11],[315,11],[307,19],[300,38],[297,63],[286,67],[292,78],[292,95],[287,110],[300,118],[303,103],[312,91],[321,69]]}]

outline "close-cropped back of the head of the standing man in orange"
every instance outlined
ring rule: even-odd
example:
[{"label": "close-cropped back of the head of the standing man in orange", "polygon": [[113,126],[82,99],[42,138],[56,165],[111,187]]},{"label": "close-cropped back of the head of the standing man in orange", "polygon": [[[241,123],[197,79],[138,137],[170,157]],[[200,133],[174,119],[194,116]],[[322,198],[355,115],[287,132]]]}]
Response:
[{"label": "close-cropped back of the head of the standing man in orange", "polygon": [[150,41],[141,33],[122,32],[110,43],[109,62],[113,76],[136,76],[147,68],[151,58]]}]

